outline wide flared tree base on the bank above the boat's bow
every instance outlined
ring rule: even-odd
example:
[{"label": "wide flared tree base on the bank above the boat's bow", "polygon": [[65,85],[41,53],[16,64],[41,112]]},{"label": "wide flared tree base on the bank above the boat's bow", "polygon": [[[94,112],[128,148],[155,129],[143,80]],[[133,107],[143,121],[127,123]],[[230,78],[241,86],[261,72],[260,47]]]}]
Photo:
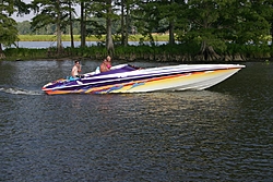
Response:
[{"label": "wide flared tree base on the bank above the boat's bow", "polygon": [[209,46],[205,41],[202,41],[200,52],[194,58],[197,61],[216,61],[221,57],[214,51],[212,46]]}]

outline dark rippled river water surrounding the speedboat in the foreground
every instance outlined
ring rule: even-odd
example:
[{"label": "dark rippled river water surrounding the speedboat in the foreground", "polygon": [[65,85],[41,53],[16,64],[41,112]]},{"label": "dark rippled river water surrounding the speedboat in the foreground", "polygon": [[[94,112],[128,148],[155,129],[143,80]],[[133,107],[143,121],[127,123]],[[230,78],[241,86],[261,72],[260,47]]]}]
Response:
[{"label": "dark rippled river water surrounding the speedboat in the foreground", "polygon": [[273,63],[245,64],[201,92],[48,96],[73,61],[0,61],[0,181],[273,181]]}]

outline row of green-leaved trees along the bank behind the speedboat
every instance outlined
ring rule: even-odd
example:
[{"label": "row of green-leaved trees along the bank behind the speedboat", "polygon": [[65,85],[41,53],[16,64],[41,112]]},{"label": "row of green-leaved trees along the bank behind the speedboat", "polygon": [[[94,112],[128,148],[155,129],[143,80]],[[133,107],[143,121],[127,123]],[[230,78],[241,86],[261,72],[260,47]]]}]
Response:
[{"label": "row of green-leaved trees along the bank behind the speedboat", "polygon": [[[80,14],[75,12],[80,7]],[[230,56],[229,47],[254,46],[272,53],[272,0],[0,0],[1,45],[17,40],[19,28],[11,14],[34,12],[29,26],[33,34],[56,34],[57,52],[62,53],[61,35],[105,37],[107,53],[115,54],[115,43],[128,47],[130,34],[141,34],[152,46],[153,33],[168,33],[168,46],[175,49],[199,46],[194,59],[211,61]],[[23,22],[24,23],[24,22]],[[21,25],[23,25],[23,23]],[[27,22],[25,22],[27,24]],[[21,26],[22,27],[22,26]],[[221,53],[221,56],[219,56]],[[232,52],[236,53],[236,52]]]}]

